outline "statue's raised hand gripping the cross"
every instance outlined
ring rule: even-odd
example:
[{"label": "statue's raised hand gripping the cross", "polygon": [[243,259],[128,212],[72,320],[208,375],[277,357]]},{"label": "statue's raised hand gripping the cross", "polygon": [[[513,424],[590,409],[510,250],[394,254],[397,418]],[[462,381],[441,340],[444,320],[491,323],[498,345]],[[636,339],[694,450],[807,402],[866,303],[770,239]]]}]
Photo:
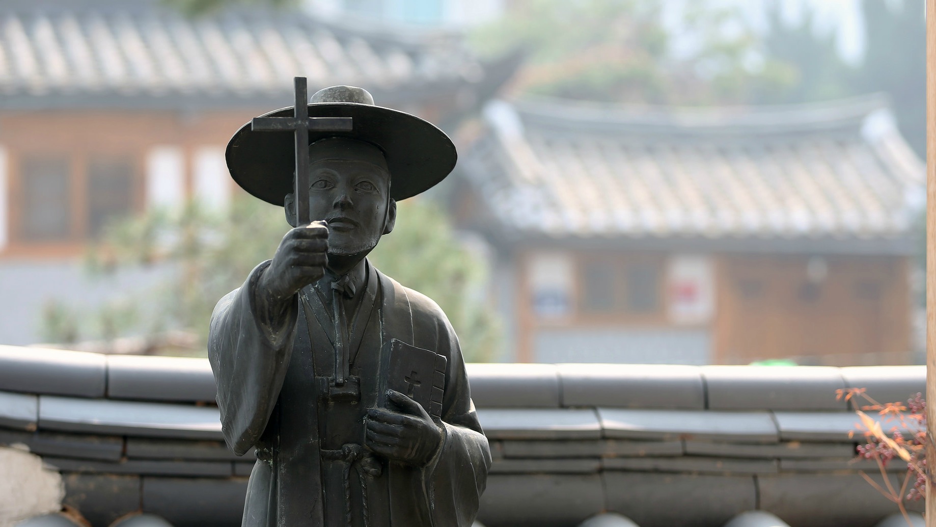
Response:
[{"label": "statue's raised hand gripping the cross", "polygon": [[329,227],[324,221],[291,229],[263,271],[257,293],[274,302],[291,298],[325,274],[328,253]]}]

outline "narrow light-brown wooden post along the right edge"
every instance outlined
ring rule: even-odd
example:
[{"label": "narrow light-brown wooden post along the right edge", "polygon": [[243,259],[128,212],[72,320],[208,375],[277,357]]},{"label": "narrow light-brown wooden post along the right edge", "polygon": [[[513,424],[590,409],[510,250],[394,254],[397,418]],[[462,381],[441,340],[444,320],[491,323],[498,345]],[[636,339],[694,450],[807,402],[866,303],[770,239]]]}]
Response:
[{"label": "narrow light-brown wooden post along the right edge", "polygon": [[[927,464],[936,473],[936,0],[927,0]],[[927,485],[927,527],[936,527],[936,483]]]}]

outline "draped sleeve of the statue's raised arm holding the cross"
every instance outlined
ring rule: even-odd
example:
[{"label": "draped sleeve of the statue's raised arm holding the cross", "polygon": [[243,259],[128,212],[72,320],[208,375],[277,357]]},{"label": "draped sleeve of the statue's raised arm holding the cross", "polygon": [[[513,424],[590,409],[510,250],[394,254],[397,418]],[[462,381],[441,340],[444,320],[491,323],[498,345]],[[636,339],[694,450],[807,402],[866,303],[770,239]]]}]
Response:
[{"label": "draped sleeve of the statue's raised arm holding the cross", "polygon": [[240,288],[218,301],[208,335],[221,430],[238,456],[267,427],[289,366],[299,314],[298,296],[276,320],[257,311],[256,282],[269,265],[268,260],[256,266]]}]

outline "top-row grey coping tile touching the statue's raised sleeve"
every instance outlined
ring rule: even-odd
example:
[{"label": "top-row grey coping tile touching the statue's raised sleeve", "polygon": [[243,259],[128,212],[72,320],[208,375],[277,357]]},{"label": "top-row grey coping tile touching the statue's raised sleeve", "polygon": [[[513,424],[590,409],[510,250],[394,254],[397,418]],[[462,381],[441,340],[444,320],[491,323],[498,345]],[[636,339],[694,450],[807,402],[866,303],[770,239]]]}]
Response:
[{"label": "top-row grey coping tile touching the statue's raised sleeve", "polygon": [[110,399],[214,403],[214,375],[206,359],[111,355],[107,361]]}]

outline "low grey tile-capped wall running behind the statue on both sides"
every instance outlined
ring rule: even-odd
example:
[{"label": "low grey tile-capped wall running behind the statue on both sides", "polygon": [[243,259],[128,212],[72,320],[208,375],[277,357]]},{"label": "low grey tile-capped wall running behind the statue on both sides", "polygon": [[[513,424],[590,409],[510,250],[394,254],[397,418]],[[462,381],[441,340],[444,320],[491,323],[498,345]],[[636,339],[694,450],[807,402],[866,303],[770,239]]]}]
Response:
[{"label": "low grey tile-capped wall running behind the statue on both sides", "polygon": [[[896,507],[858,474],[878,471],[855,461],[858,419],[836,390],[889,402],[926,386],[924,366],[470,364],[468,376],[493,457],[488,527],[573,527],[601,511],[721,527],[752,509],[872,527]],[[0,446],[58,469],[65,503],[95,525],[140,507],[178,527],[239,525],[256,457],[224,445],[213,385],[206,359],[0,346]],[[893,462],[887,476],[899,487],[906,471]]]}]

